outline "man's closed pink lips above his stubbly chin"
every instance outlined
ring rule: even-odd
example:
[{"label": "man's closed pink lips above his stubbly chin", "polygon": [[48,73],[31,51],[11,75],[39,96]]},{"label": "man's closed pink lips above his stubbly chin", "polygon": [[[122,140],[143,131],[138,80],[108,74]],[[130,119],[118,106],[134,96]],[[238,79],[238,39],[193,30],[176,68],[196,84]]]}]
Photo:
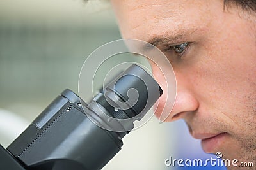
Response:
[{"label": "man's closed pink lips above his stubbly chin", "polygon": [[225,138],[227,138],[227,133],[222,132],[219,134],[194,134],[194,138],[201,139],[201,145],[206,153],[218,152],[218,148],[223,143]]}]

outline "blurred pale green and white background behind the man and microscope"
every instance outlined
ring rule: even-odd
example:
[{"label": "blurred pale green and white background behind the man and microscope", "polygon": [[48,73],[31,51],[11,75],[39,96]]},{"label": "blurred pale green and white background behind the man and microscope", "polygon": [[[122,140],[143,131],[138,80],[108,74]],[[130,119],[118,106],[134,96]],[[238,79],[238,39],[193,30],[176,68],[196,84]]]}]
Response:
[{"label": "blurred pale green and white background behind the man and microscope", "polygon": [[[64,89],[77,93],[86,57],[120,38],[108,1],[1,0],[1,145],[8,146]],[[153,117],[125,136],[121,152],[104,169],[180,169],[164,165],[170,156],[209,157],[184,122],[159,124]]]}]

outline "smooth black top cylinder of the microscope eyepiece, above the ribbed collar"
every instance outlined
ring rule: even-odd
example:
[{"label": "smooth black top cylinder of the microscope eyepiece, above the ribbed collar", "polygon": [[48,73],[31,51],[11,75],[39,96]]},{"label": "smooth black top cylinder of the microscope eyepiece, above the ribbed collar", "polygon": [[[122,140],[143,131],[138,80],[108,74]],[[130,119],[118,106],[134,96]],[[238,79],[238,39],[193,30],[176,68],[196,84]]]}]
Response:
[{"label": "smooth black top cylinder of the microscope eyepiece, above the ribbed collar", "polygon": [[[135,64],[109,83],[106,87],[106,91],[112,91],[116,96],[120,97],[123,103],[118,102],[118,104],[128,104],[134,111],[134,115],[138,115],[142,111],[147,113],[163,94],[163,90],[159,87],[156,80],[154,80],[147,71]],[[111,101],[114,100],[115,99],[111,98]],[[116,107],[122,108],[122,106]]]}]

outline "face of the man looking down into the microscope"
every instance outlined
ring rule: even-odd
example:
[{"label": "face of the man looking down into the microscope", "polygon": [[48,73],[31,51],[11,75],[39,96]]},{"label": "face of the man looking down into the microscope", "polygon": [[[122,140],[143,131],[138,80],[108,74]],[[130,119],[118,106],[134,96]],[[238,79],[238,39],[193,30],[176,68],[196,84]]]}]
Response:
[{"label": "face of the man looking down into the microscope", "polygon": [[177,97],[167,121],[183,118],[207,153],[256,160],[255,18],[220,0],[111,3],[123,38],[153,43],[173,66]]}]

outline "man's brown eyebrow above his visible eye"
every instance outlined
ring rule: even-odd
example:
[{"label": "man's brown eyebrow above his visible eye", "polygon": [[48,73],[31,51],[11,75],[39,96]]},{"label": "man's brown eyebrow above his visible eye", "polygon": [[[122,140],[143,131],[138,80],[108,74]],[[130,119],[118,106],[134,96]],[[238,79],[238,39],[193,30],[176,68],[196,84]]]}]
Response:
[{"label": "man's brown eyebrow above his visible eye", "polygon": [[[161,34],[158,36],[154,36],[153,38],[150,38],[147,42],[150,43],[143,46],[144,50],[151,50],[153,46],[157,45],[170,45],[172,43],[177,43],[177,41],[182,41],[184,38],[188,38],[189,35],[193,34],[197,29],[181,29],[179,32],[176,32],[175,34]],[[153,46],[152,46],[153,45]]]}]

